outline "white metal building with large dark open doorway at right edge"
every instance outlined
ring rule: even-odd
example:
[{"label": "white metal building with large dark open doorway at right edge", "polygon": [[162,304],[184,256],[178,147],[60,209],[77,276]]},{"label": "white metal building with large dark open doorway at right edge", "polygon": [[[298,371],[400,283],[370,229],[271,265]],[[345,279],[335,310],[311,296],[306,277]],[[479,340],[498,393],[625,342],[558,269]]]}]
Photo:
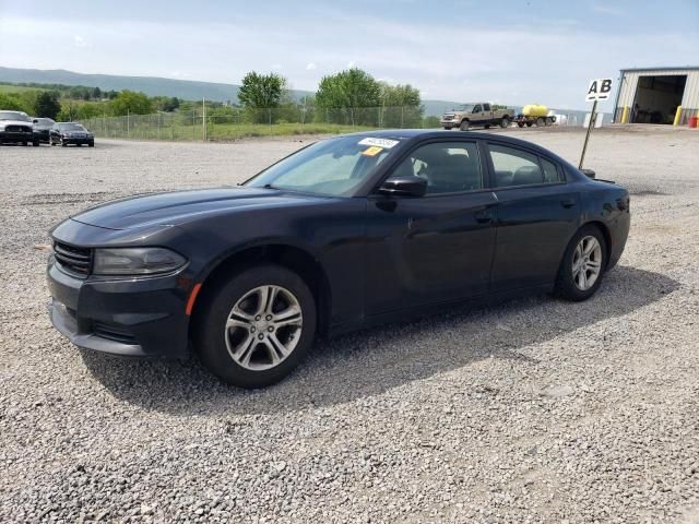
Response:
[{"label": "white metal building with large dark open doorway at right edge", "polygon": [[673,123],[682,106],[679,124],[699,116],[699,67],[623,69],[620,71],[614,121],[620,122],[624,107],[628,121]]}]

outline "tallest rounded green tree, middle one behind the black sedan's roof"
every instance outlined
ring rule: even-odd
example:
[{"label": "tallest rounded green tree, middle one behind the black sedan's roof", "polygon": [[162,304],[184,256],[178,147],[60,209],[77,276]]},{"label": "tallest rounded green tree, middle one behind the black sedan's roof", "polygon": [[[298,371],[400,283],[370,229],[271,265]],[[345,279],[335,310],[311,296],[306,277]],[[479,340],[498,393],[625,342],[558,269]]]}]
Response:
[{"label": "tallest rounded green tree, middle one behind the black sedan's roof", "polygon": [[[376,121],[376,111],[358,108],[378,107],[381,87],[366,71],[354,68],[330,76],[323,76],[316,93],[316,105],[324,111],[317,111],[317,118],[329,115],[329,109],[340,109],[341,118],[348,118],[352,124]],[[337,115],[336,111],[332,111]],[[330,118],[329,118],[330,119]],[[335,120],[336,117],[331,120]],[[344,123],[344,122],[343,122]]]}]

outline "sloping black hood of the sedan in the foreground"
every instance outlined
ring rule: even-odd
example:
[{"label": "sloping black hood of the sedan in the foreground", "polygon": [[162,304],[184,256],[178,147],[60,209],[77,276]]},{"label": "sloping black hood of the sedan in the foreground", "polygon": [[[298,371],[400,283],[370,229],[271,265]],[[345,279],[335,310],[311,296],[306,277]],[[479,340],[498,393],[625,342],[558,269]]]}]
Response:
[{"label": "sloping black hood of the sedan in the foreground", "polygon": [[107,229],[132,229],[156,225],[177,226],[211,214],[327,200],[329,198],[263,188],[175,191],[107,202],[71,218]]}]

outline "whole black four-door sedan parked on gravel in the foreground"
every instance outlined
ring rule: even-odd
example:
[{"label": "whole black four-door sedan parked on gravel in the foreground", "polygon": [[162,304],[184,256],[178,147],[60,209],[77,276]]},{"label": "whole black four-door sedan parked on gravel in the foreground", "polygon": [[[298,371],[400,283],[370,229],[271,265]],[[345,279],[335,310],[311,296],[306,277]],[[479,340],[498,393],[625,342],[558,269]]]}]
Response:
[{"label": "whole black four-door sedan parked on gravel in the foreground", "polygon": [[83,348],[274,383],[317,335],[463,300],[584,300],[626,243],[628,192],[494,134],[318,142],[241,187],[135,196],[51,231],[54,325]]}]

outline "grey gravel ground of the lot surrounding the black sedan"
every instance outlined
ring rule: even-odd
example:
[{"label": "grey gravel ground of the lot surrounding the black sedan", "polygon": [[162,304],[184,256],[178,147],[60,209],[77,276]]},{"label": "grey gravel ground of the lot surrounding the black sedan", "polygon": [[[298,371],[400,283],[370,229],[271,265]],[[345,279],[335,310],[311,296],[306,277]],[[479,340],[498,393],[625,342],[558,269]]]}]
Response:
[{"label": "grey gravel ground of the lot surrounding the black sedan", "polygon": [[[576,160],[582,132],[510,131]],[[595,130],[632,192],[583,303],[455,309],[321,342],[288,380],[81,353],[47,229],[134,192],[244,180],[307,143],[0,147],[1,522],[699,522],[699,132]]]}]

